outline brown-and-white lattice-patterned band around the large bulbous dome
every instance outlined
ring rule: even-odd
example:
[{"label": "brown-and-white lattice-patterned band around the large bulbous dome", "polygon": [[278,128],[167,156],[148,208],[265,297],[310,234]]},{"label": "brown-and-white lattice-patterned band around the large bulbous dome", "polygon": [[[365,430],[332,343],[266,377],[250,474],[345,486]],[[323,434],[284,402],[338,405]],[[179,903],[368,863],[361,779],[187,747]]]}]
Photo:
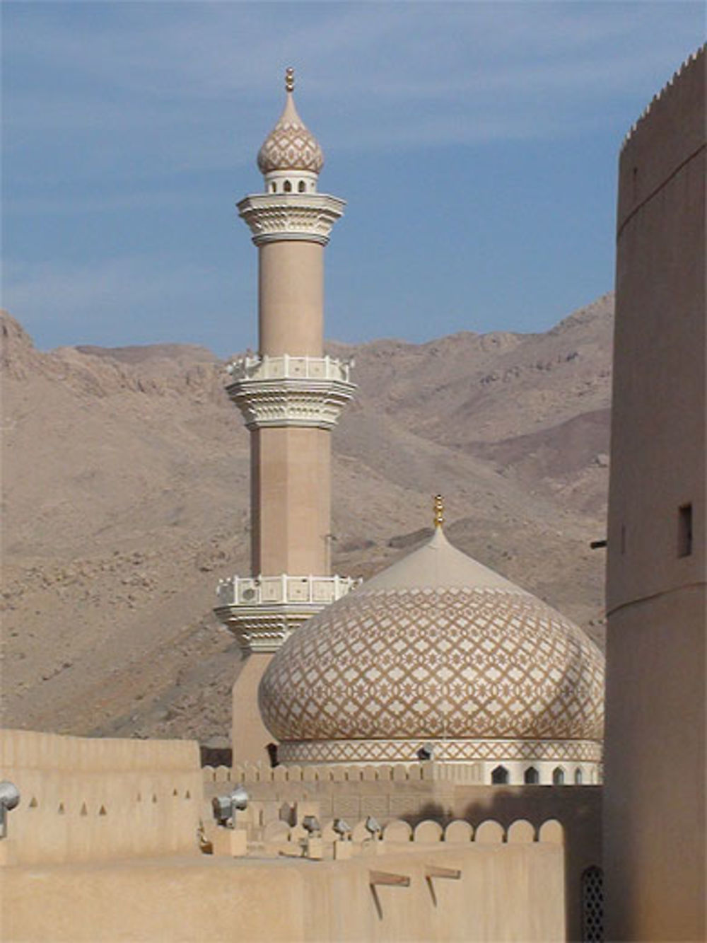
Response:
[{"label": "brown-and-white lattice-patterned band around the large bulbous dome", "polygon": [[280,741],[600,740],[603,659],[522,591],[355,590],[272,660],[260,710]]}]

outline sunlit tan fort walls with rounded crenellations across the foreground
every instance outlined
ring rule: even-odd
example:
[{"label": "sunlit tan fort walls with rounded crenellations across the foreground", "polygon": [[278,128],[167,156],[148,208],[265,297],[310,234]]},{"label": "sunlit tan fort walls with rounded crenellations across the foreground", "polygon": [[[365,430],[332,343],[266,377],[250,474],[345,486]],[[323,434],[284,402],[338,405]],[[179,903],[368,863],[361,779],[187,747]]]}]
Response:
[{"label": "sunlit tan fort walls with rounded crenellations across the foreground", "polygon": [[[567,926],[579,938],[565,892],[573,826],[541,818],[541,800],[596,787],[468,786],[468,771],[434,763],[237,769],[252,799],[229,831],[207,796],[228,792],[234,774],[201,770],[198,756],[186,741],[3,732],[0,776],[22,798],[0,839],[2,938],[550,941]],[[435,784],[452,790],[446,806]],[[336,808],[329,788],[358,794],[359,808],[407,790],[418,813],[382,816],[376,834],[354,816],[342,839],[321,811],[320,798]],[[520,793],[536,797],[537,820],[518,816]],[[305,814],[321,819],[318,860]],[[240,857],[223,843],[238,833]]]}]

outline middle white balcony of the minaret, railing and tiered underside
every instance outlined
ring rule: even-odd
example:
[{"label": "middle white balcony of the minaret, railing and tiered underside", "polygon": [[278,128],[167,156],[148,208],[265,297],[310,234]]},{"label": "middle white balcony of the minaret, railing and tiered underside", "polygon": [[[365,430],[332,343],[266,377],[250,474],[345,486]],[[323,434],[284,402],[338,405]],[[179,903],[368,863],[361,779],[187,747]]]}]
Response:
[{"label": "middle white balcony of the minaret, railing and tiered underside", "polygon": [[246,426],[331,429],[354,396],[353,361],[322,356],[245,356],[226,368],[226,388]]}]

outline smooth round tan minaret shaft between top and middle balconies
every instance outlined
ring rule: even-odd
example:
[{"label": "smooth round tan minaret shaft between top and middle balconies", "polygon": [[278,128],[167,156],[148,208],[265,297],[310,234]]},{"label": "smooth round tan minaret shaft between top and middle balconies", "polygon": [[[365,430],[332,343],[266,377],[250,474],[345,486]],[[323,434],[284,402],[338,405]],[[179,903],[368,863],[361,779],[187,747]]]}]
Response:
[{"label": "smooth round tan minaret shaft between top and middle balconies", "polygon": [[324,249],[283,240],[258,249],[260,354],[321,356]]}]

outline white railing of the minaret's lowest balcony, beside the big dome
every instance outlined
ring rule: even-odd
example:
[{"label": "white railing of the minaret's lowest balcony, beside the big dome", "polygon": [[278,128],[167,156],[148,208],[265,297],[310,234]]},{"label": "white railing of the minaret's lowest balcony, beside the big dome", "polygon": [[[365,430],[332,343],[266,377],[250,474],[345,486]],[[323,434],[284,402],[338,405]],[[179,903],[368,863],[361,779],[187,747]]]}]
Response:
[{"label": "white railing of the minaret's lowest balcony, beside the big dome", "polygon": [[360,580],[349,576],[231,576],[219,581],[219,605],[328,604],[345,596]]}]

